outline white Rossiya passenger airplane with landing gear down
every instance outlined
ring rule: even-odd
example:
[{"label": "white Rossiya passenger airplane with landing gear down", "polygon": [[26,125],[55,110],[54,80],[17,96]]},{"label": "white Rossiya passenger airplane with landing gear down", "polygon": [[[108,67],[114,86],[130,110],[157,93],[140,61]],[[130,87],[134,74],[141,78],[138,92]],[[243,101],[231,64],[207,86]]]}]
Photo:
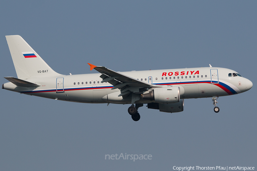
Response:
[{"label": "white Rossiya passenger airplane with landing gear down", "polygon": [[62,75],[52,70],[19,35],[5,36],[17,78],[2,89],[49,99],[80,103],[131,104],[128,113],[140,119],[138,108],[175,113],[184,110],[184,99],[211,97],[218,113],[220,96],[243,93],[252,88],[250,80],[226,68],[203,67],[115,72],[89,64],[97,74]]}]

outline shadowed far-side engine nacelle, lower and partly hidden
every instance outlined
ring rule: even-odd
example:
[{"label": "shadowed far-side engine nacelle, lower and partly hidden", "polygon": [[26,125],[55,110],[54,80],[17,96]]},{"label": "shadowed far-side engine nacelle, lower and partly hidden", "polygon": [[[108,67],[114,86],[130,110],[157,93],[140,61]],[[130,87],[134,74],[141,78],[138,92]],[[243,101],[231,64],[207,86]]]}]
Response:
[{"label": "shadowed far-side engine nacelle, lower and partly hidden", "polygon": [[148,103],[148,109],[159,109],[160,112],[168,112],[168,113],[175,113],[175,112],[182,112],[184,110],[184,99],[181,99],[178,103]]}]

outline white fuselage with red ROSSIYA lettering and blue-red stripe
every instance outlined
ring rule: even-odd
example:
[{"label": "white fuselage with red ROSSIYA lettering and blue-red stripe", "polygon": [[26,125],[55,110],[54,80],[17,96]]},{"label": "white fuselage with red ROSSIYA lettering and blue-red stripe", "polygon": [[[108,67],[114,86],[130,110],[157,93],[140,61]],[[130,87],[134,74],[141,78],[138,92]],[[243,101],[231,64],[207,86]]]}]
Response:
[{"label": "white fuselage with red ROSSIYA lettering and blue-red stripe", "polygon": [[[252,82],[241,76],[229,76],[237,73],[226,68],[204,67],[166,70],[147,70],[120,72],[146,83],[163,86],[179,86],[180,99],[226,96],[242,93],[251,88]],[[119,89],[111,89],[108,82],[101,83],[101,74],[62,75],[53,77],[27,79],[26,81],[41,85],[35,87],[20,87],[13,83],[5,83],[4,89],[24,94],[51,99],[81,102],[81,103],[120,103],[131,104],[131,97],[108,100],[107,94],[119,95]],[[144,91],[143,93],[147,93]],[[149,103],[149,100],[139,99],[135,103]]]}]

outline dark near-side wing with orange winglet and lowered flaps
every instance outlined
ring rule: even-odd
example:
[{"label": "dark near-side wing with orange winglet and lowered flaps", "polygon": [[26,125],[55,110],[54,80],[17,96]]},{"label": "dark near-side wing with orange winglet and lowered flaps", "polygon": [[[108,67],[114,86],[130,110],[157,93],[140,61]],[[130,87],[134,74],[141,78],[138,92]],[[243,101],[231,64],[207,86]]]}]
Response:
[{"label": "dark near-side wing with orange winglet and lowered flaps", "polygon": [[118,88],[121,90],[121,94],[119,94],[118,96],[126,96],[131,92],[141,94],[148,89],[160,87],[154,84],[142,82],[119,72],[115,72],[104,66],[95,66],[92,64],[89,65],[90,70],[95,69],[102,74],[100,77],[103,79],[103,81],[101,82],[109,82],[111,85],[113,85],[112,89]]}]

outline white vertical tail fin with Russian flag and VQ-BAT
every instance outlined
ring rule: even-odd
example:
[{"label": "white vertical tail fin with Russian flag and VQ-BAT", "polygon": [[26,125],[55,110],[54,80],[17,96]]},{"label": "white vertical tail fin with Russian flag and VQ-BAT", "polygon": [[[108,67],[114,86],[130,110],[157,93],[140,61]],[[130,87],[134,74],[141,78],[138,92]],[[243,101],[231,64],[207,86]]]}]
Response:
[{"label": "white vertical tail fin with Russian flag and VQ-BAT", "polygon": [[19,35],[5,36],[17,77],[21,80],[35,77],[60,76]]}]

